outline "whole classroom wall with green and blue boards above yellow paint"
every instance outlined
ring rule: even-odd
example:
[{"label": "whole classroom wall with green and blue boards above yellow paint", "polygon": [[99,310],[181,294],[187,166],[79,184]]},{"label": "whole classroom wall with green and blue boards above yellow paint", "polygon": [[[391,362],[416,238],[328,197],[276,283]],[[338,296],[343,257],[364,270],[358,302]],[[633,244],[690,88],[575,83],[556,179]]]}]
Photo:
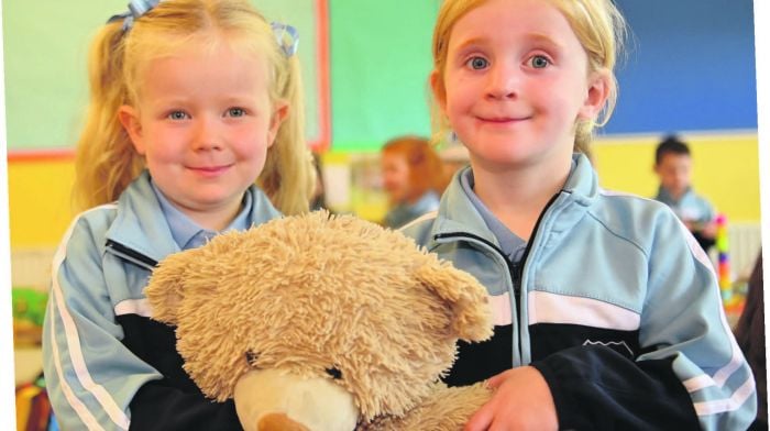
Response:
[{"label": "whole classroom wall with green and blue boards above yellow paint", "polygon": [[[86,42],[106,16],[124,9],[118,0],[99,2],[98,8],[74,1],[82,7],[65,8],[57,0],[3,1],[12,247],[56,244],[73,217],[72,159],[18,155],[72,148],[86,100]],[[328,8],[331,150],[376,152],[395,134],[429,132],[426,79],[439,0],[255,3],[275,4],[278,9],[271,13],[283,16],[309,16],[298,20],[310,27],[300,42],[300,53],[312,53],[308,64],[318,55],[312,14],[318,4]],[[615,115],[595,147],[603,186],[652,195],[652,146],[660,135],[682,131],[695,136],[697,190],[732,219],[758,221],[751,1],[617,3],[632,38],[618,69]],[[55,13],[41,15],[40,8]],[[305,74],[308,82],[319,79],[312,67]],[[323,82],[308,86],[316,95],[310,100],[317,100],[321,87]]]}]

